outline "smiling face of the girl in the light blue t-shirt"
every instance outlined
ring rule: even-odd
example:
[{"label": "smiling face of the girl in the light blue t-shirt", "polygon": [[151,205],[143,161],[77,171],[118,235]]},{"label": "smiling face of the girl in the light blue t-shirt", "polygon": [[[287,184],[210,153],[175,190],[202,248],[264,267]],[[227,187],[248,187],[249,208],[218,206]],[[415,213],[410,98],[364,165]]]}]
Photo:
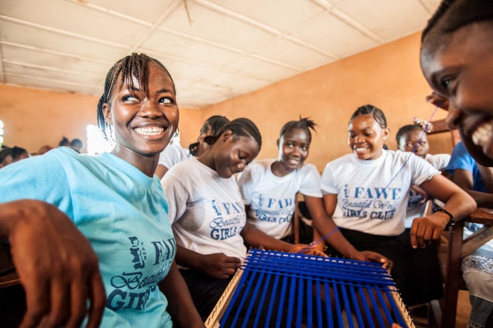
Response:
[{"label": "smiling face of the girl in the light blue t-shirt", "polygon": [[138,157],[155,157],[175,134],[179,121],[175,86],[164,69],[149,62],[147,92],[133,79],[133,88],[118,82],[103,114],[114,127],[116,145],[112,153],[140,167]]}]

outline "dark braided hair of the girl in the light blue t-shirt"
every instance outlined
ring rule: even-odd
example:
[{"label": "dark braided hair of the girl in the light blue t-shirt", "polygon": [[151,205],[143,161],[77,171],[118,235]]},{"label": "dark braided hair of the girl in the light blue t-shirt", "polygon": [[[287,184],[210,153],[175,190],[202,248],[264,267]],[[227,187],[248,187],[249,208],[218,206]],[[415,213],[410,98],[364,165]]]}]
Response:
[{"label": "dark braided hair of the girl in the light blue t-shirt", "polygon": [[114,92],[117,81],[119,81],[118,90],[123,87],[124,83],[127,84],[128,88],[133,88],[133,78],[135,77],[139,81],[142,92],[147,93],[147,66],[149,62],[155,62],[155,64],[161,66],[161,68],[164,69],[164,71],[170,77],[171,82],[173,83],[173,92],[175,92],[176,94],[175,82],[173,81],[173,78],[171,77],[166,67],[159,60],[151,58],[144,53],[132,53],[131,55],[127,55],[121,60],[118,60],[118,62],[116,62],[112,66],[112,68],[110,68],[110,71],[108,71],[108,74],[106,75],[103,95],[101,95],[101,98],[99,99],[99,102],[97,104],[97,125],[105,140],[109,140],[109,136],[111,136],[112,132],[112,127],[105,121],[103,114],[103,104],[111,104],[112,94]]}]

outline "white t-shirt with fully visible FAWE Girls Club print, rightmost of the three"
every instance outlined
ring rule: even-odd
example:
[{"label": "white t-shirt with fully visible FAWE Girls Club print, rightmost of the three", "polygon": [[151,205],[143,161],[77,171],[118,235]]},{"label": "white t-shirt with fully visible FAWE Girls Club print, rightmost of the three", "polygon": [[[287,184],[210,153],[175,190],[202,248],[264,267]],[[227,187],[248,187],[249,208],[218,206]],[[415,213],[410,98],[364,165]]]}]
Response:
[{"label": "white t-shirt with fully visible FAWE Girls Club print, rightmost of the three", "polygon": [[409,189],[438,174],[413,153],[383,149],[376,160],[351,153],[329,162],[320,185],[323,194],[338,195],[332,218],[339,227],[397,236],[405,229]]}]

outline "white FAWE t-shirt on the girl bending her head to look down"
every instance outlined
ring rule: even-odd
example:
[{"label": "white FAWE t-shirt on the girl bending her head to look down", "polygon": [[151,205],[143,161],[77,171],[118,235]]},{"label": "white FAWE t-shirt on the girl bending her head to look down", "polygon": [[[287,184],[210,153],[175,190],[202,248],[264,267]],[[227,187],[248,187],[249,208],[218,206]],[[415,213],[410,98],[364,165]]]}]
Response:
[{"label": "white FAWE t-shirt on the girl bending her head to look down", "polygon": [[201,254],[244,257],[246,216],[234,176],[225,179],[193,157],[161,179],[177,244]]}]

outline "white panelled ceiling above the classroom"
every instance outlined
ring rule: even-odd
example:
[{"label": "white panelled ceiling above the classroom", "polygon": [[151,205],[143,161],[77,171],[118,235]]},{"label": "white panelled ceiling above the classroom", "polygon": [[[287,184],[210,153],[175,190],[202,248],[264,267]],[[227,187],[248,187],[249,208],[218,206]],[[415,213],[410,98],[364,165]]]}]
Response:
[{"label": "white panelled ceiling above the classroom", "polygon": [[132,52],[202,108],[412,34],[440,0],[0,0],[0,82],[99,97]]}]

